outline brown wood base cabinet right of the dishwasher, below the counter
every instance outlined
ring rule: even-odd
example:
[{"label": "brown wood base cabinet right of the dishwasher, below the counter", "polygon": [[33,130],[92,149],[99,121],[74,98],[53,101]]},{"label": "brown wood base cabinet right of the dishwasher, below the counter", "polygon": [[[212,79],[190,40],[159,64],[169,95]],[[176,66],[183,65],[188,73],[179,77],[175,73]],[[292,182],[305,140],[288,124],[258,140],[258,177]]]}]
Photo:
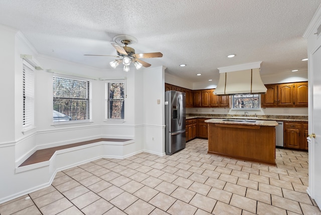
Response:
[{"label": "brown wood base cabinet right of the dishwasher, below the counter", "polygon": [[284,147],[307,150],[307,123],[284,122]]}]

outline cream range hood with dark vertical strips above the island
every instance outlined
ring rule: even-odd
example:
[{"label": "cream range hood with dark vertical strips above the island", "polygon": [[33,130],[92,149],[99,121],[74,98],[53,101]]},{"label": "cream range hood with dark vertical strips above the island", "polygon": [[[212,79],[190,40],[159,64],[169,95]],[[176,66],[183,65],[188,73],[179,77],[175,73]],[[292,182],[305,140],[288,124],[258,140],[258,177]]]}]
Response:
[{"label": "cream range hood with dark vertical strips above the island", "polygon": [[220,79],[216,95],[263,94],[266,92],[261,76],[262,61],[218,68]]}]

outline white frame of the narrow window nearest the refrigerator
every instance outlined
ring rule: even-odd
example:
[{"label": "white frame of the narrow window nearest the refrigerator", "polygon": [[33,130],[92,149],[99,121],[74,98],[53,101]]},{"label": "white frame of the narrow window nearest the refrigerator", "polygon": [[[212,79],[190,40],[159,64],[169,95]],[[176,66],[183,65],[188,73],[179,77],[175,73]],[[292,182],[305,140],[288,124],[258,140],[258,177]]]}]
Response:
[{"label": "white frame of the narrow window nearest the refrigerator", "polygon": [[[111,83],[122,83],[123,84],[123,98],[120,99],[122,100],[122,105],[123,105],[123,118],[122,119],[113,119],[113,118],[108,118],[109,116],[109,91],[108,91],[108,84]],[[106,80],[105,81],[105,116],[104,120],[107,122],[125,122],[125,97],[126,97],[126,82],[125,79],[114,79],[114,80]]]}]

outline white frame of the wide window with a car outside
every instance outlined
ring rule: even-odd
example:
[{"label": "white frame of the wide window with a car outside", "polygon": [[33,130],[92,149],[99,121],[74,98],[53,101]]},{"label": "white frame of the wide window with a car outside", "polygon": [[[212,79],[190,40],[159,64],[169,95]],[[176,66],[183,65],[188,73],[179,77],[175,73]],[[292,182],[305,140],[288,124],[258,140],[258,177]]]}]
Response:
[{"label": "white frame of the wide window with a car outside", "polygon": [[[52,122],[53,125],[64,125],[64,124],[79,124],[79,123],[88,123],[88,122],[92,122],[92,81],[87,79],[87,78],[81,78],[81,77],[77,77],[77,76],[70,76],[70,75],[64,75],[64,74],[56,74],[54,73],[52,80],[52,87],[54,87],[54,78],[63,78],[63,79],[69,79],[69,80],[76,80],[76,81],[85,81],[86,85],[87,85],[87,96],[88,98],[79,98],[79,99],[75,99],[72,97],[60,97],[63,99],[75,99],[75,100],[86,100],[87,101],[87,107],[86,107],[86,113],[87,113],[87,119],[84,120],[69,120],[69,121],[55,121],[54,120],[54,116],[52,115]],[[54,90],[54,88],[53,88]],[[53,99],[52,99],[52,107],[53,107],[53,111],[54,111],[54,99],[59,99],[59,96],[55,97],[53,94]]]}]

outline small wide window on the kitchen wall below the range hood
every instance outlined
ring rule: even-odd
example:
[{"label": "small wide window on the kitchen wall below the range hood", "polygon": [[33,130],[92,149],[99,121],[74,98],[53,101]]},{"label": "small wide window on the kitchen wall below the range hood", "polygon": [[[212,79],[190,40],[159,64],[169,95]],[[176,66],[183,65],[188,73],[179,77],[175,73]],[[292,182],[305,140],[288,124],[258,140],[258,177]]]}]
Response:
[{"label": "small wide window on the kitchen wall below the range hood", "polygon": [[233,95],[233,109],[259,109],[259,94]]}]

